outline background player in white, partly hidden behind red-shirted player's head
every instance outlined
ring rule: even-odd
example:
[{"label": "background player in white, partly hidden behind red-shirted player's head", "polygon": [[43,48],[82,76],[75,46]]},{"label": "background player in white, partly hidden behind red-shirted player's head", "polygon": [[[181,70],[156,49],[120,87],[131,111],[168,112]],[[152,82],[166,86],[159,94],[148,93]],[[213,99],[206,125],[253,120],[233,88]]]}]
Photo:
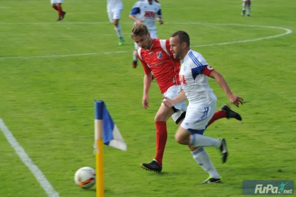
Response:
[{"label": "background player in white, partly hidden behind red-shirted player's head", "polygon": [[[163,24],[161,19],[161,5],[157,0],[138,0],[130,13],[130,18],[135,23],[143,23],[147,26],[151,38],[157,38],[157,28],[155,21]],[[138,64],[138,44],[135,42],[135,51],[133,52],[133,67],[136,68]]]}]

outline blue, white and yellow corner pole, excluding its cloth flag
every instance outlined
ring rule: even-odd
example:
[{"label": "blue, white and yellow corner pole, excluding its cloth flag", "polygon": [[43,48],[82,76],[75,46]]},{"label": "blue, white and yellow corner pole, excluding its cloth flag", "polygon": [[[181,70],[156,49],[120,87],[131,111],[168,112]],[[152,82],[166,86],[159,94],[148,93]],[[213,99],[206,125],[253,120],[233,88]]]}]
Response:
[{"label": "blue, white and yellow corner pole, excluding its cloth flag", "polygon": [[96,197],[104,197],[103,106],[95,101]]}]

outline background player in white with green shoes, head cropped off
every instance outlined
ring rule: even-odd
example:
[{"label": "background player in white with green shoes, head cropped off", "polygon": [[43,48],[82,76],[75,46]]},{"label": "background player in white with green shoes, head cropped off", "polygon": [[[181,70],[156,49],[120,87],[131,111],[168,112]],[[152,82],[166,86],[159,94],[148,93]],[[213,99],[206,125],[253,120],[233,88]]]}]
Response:
[{"label": "background player in white with green shoes, head cropped off", "polygon": [[110,23],[114,24],[114,30],[117,33],[119,39],[119,45],[123,45],[124,38],[122,36],[121,27],[119,25],[119,19],[123,9],[123,4],[121,0],[107,0],[107,12]]}]

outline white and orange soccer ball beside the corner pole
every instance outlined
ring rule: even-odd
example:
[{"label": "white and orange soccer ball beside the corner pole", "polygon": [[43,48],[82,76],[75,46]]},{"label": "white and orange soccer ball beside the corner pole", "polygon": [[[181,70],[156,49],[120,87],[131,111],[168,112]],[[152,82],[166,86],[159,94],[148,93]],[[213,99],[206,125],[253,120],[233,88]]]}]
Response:
[{"label": "white and orange soccer ball beside the corner pole", "polygon": [[75,175],[74,181],[77,186],[83,189],[89,189],[96,184],[96,171],[91,167],[79,168]]}]

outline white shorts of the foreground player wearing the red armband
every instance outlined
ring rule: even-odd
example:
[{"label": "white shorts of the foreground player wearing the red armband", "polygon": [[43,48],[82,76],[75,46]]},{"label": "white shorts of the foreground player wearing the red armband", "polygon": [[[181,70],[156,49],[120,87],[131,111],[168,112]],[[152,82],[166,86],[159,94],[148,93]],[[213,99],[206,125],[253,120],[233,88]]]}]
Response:
[{"label": "white shorts of the foreground player wearing the red armband", "polygon": [[191,105],[189,103],[186,111],[186,116],[181,124],[181,127],[190,132],[202,135],[203,132],[207,129],[208,123],[212,119],[216,111],[216,107],[216,102],[209,107]]}]

